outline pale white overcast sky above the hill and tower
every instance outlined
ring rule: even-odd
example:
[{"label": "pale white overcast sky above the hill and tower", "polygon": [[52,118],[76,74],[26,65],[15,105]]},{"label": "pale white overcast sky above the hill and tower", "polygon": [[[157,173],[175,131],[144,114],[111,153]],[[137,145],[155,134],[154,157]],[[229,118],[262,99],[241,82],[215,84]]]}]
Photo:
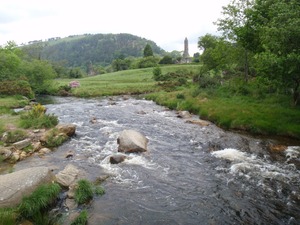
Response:
[{"label": "pale white overcast sky above the hill and tower", "polygon": [[1,0],[0,45],[75,34],[130,33],[192,55],[230,0]]}]

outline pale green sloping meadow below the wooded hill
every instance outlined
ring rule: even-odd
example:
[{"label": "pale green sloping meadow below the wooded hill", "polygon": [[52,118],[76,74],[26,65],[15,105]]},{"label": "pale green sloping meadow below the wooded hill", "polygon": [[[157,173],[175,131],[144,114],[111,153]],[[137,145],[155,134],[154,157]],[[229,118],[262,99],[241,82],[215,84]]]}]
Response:
[{"label": "pale green sloping meadow below the wooded hill", "polygon": [[[163,66],[162,72],[172,72],[179,69],[197,71],[198,65]],[[77,97],[112,96],[123,94],[144,94],[158,91],[161,88],[152,79],[153,68],[124,70],[102,74],[93,77],[77,79],[80,87],[74,88],[72,94]],[[74,79],[59,79],[59,86],[69,84]]]}]

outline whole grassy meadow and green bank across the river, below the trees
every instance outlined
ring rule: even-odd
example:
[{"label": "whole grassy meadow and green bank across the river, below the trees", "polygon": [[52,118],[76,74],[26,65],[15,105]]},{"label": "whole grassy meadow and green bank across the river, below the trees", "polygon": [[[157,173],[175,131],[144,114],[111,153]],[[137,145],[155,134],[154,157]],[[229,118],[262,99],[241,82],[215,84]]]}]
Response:
[{"label": "whole grassy meadow and green bank across the river, below the trees", "polygon": [[[161,67],[161,73],[184,71],[191,74],[184,84],[155,82],[153,68],[118,71],[78,80],[72,90],[77,97],[143,94],[170,109],[187,110],[227,130],[240,130],[255,135],[272,135],[300,140],[300,107],[291,104],[290,96],[264,93],[253,84],[227,81],[227,87],[199,88],[191,77],[199,65]],[[58,80],[67,85],[71,80]],[[244,85],[244,86],[243,86]],[[225,86],[225,85],[223,85]]]}]

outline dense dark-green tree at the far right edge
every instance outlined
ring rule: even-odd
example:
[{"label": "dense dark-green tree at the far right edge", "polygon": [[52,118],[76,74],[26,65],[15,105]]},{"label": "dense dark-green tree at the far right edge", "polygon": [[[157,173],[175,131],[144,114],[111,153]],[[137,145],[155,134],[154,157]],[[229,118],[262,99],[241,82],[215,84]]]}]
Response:
[{"label": "dense dark-green tree at the far right edge", "polygon": [[298,0],[257,0],[251,11],[262,46],[259,70],[268,79],[292,90],[294,105],[300,89],[300,4]]}]

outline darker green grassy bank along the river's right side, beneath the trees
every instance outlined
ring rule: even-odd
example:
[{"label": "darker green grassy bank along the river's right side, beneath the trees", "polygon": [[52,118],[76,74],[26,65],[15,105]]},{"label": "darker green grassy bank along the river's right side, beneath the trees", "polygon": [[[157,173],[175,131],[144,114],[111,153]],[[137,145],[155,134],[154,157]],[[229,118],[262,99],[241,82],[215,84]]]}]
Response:
[{"label": "darker green grassy bank along the river's right side, beneath the trees", "polygon": [[178,99],[178,92],[164,91],[149,94],[146,98],[171,109],[188,110],[225,129],[300,139],[300,108],[287,104],[289,100],[285,96],[255,99],[220,93],[193,96],[191,90],[180,93],[184,99]]}]

